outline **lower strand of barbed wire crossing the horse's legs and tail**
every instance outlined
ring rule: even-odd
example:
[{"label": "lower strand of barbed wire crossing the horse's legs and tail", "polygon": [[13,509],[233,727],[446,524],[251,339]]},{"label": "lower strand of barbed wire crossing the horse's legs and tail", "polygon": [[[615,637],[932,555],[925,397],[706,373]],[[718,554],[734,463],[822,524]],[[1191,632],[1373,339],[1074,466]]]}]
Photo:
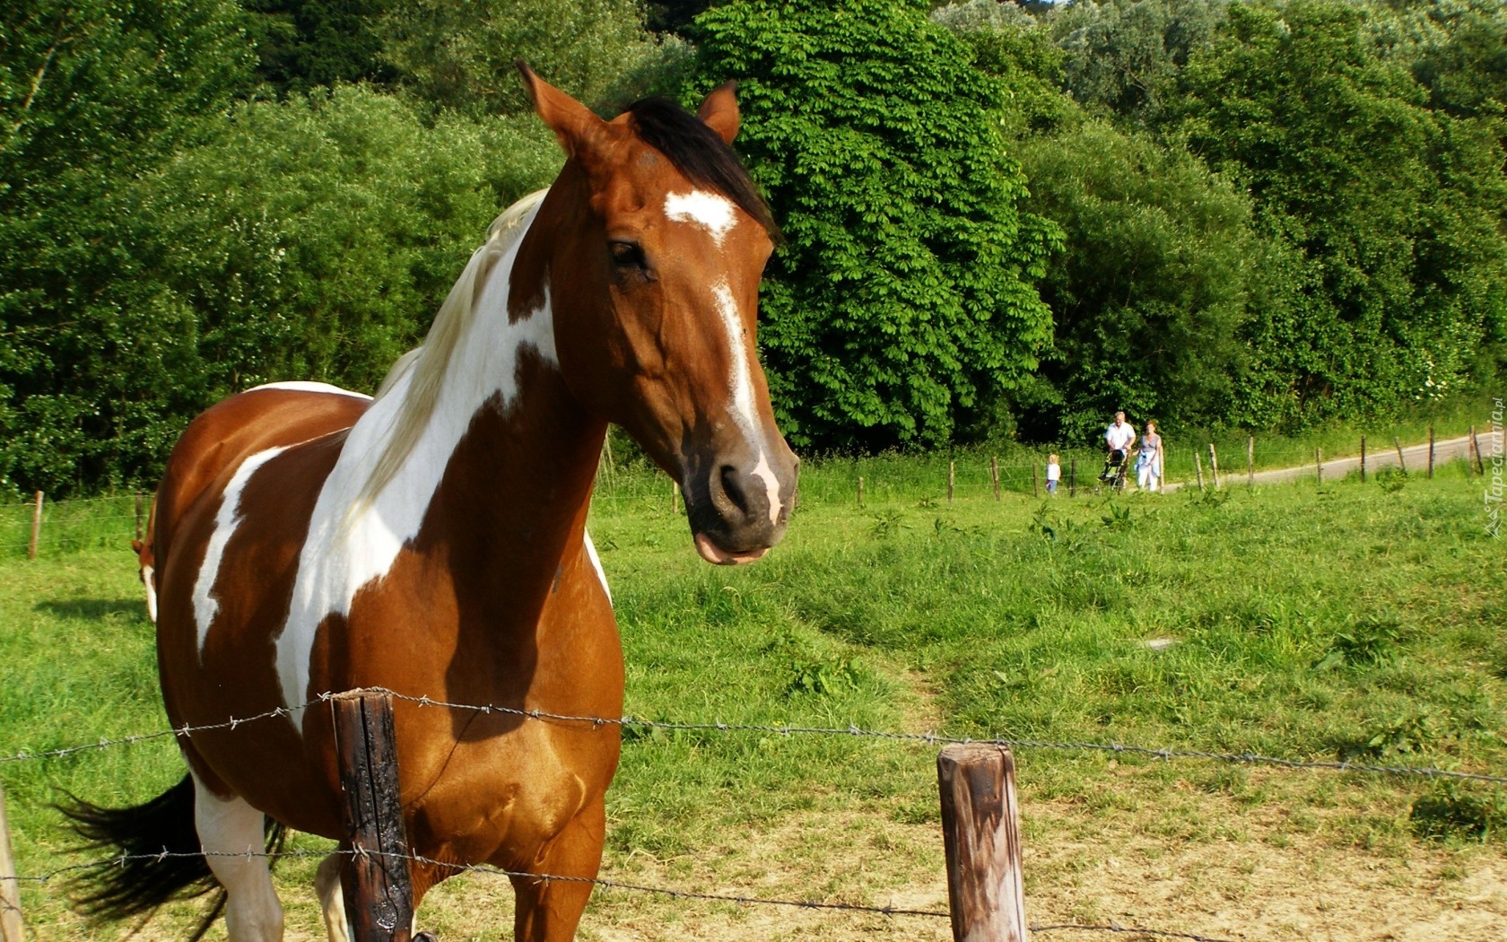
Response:
[{"label": "lower strand of barbed wire crossing the horse's legs and tail", "polygon": [[[506,870],[503,867],[493,867],[490,864],[457,864],[452,861],[439,861],[434,858],[425,858],[419,855],[405,855],[369,849],[339,849],[333,847],[330,850],[246,850],[246,852],[170,852],[163,849],[160,853],[139,853],[105,858],[99,861],[89,861],[84,864],[69,864],[66,867],[59,867],[41,876],[15,876],[15,877],[0,877],[0,880],[12,880],[17,883],[36,883],[47,885],[57,877],[81,873],[86,870],[99,870],[104,867],[125,867],[130,862],[163,862],[170,859],[187,859],[187,858],[238,858],[238,859],[283,859],[283,858],[327,858],[332,855],[342,856],[369,856],[369,858],[384,858],[390,861],[404,861],[408,864],[422,864],[425,867],[436,867],[440,870],[449,870],[451,876],[458,876],[463,873],[476,873],[485,876],[502,876],[509,879],[524,879],[543,882],[546,886],[550,883],[591,883],[592,886],[600,886],[603,889],[618,889],[627,892],[647,892],[662,897],[671,897],[675,900],[705,900],[711,903],[737,903],[741,906],[785,906],[791,909],[815,909],[815,910],[838,910],[838,912],[859,912],[867,915],[882,915],[882,916],[922,916],[922,918],[951,918],[951,913],[939,909],[910,909],[903,906],[864,906],[859,903],[824,903],[818,900],[772,900],[766,897],[747,897],[738,894],[717,894],[717,892],[699,892],[689,889],[672,889],[666,886],[648,886],[642,883],[628,883],[625,880],[618,880],[613,877],[576,877],[562,876],[550,873],[530,873],[520,870]],[[1209,936],[1200,936],[1194,933],[1181,933],[1159,928],[1139,928],[1139,927],[1123,927],[1115,924],[1108,925],[1090,925],[1079,922],[1062,922],[1053,925],[1031,925],[1031,931],[1049,933],[1062,930],[1081,930],[1081,931],[1111,931],[1111,933],[1141,933],[1148,936],[1162,936],[1168,939],[1192,939],[1194,942],[1228,942],[1225,939],[1212,939]]]}]

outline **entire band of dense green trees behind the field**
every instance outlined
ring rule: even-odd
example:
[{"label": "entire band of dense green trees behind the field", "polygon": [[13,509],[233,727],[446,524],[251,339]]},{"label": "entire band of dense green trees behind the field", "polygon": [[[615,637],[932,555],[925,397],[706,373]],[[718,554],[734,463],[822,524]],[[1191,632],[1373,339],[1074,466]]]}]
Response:
[{"label": "entire band of dense green trees behind the field", "polygon": [[369,387],[559,166],[517,57],[603,113],[744,81],[805,446],[1299,430],[1507,365],[1496,0],[934,6],[17,0],[0,490],[146,484],[264,378]]}]

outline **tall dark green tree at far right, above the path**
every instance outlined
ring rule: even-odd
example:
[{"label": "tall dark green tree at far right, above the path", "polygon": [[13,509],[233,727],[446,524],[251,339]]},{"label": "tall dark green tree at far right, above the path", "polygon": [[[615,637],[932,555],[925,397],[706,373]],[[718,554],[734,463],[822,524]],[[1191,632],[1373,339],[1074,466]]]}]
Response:
[{"label": "tall dark green tree at far right, above the path", "polygon": [[1427,107],[1338,0],[1230,8],[1183,133],[1295,255],[1252,323],[1264,414],[1389,413],[1457,387],[1507,317],[1499,140]]}]

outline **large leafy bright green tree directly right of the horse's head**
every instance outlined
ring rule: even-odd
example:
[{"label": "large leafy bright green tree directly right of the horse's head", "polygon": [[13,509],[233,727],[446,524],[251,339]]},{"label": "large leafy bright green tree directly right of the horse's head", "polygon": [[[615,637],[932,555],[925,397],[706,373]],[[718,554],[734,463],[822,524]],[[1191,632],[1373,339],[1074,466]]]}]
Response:
[{"label": "large leafy bright green tree directly right of the horse's head", "polygon": [[1037,365],[1055,229],[1017,203],[998,80],[904,0],[740,0],[696,20],[693,92],[735,78],[740,148],[785,243],[770,387],[797,445],[946,442]]}]

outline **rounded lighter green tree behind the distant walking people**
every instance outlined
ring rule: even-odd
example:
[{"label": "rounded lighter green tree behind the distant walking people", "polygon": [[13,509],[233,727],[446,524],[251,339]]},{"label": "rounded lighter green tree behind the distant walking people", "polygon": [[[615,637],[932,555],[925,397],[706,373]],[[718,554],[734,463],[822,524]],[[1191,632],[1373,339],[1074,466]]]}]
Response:
[{"label": "rounded lighter green tree behind the distant walking people", "polygon": [[1041,283],[1052,351],[1016,396],[1026,433],[1082,440],[1117,408],[1174,428],[1230,421],[1264,255],[1245,194],[1188,151],[1105,121],[1017,152],[1026,208],[1065,232]]}]

